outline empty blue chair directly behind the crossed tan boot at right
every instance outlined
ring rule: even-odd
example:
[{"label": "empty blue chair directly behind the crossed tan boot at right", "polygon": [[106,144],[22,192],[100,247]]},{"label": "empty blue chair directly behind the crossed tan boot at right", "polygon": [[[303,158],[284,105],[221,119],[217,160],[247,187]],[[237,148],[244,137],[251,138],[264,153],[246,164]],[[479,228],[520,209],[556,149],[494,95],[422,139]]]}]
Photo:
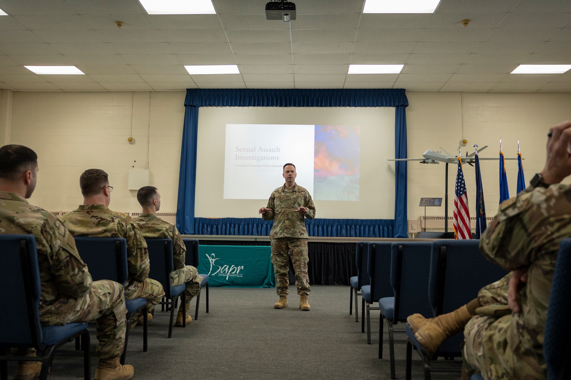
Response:
[{"label": "empty blue chair directly behind the crossed tan boot at right", "polygon": [[[437,240],[432,242],[428,300],[432,316],[450,313],[477,297],[478,291],[492,284],[508,272],[500,266],[486,260],[480,252],[480,240]],[[431,377],[431,359],[437,357],[461,357],[460,346],[464,334],[459,333],[445,340],[439,350],[429,358],[406,326],[407,343],[407,379],[411,378],[413,346],[424,362],[424,377]],[[460,362],[458,362],[460,364]],[[460,370],[460,367],[458,367]]]}]

